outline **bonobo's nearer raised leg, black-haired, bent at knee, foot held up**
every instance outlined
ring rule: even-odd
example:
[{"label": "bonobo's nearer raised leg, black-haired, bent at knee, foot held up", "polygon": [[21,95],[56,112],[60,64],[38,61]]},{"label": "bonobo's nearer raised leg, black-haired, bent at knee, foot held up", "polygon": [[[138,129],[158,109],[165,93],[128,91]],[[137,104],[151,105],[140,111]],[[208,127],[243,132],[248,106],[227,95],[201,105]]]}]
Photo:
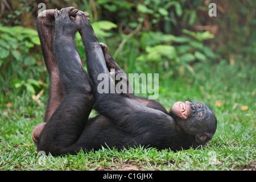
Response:
[{"label": "bonobo's nearer raised leg, black-haired, bent at knee, foot held up", "polygon": [[73,7],[55,10],[54,53],[64,96],[45,124],[38,139],[38,150],[52,154],[74,154],[93,106],[89,76],[81,65],[74,37],[80,29],[80,16],[70,18]]}]

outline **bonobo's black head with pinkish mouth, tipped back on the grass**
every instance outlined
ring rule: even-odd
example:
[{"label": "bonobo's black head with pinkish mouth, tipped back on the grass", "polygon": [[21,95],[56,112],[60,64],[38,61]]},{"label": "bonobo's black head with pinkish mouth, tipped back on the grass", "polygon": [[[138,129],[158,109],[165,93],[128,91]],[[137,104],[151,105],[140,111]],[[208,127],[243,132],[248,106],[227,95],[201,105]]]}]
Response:
[{"label": "bonobo's black head with pinkish mouth, tipped back on the grass", "polygon": [[217,119],[212,109],[202,102],[176,102],[170,115],[182,131],[195,136],[198,144],[207,143],[216,131]]}]

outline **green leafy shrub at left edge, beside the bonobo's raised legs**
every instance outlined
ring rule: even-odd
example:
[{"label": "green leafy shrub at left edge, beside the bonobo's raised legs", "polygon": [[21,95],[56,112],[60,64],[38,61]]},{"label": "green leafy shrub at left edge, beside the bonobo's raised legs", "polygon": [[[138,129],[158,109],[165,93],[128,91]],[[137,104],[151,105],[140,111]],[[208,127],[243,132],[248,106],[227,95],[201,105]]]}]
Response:
[{"label": "green leafy shrub at left edge, beside the bonobo's raised legs", "polygon": [[40,88],[35,79],[39,79],[43,72],[41,63],[36,60],[42,56],[31,53],[36,45],[40,45],[38,32],[22,26],[1,26],[0,32],[0,83],[3,85],[0,90],[11,86],[35,94]]}]

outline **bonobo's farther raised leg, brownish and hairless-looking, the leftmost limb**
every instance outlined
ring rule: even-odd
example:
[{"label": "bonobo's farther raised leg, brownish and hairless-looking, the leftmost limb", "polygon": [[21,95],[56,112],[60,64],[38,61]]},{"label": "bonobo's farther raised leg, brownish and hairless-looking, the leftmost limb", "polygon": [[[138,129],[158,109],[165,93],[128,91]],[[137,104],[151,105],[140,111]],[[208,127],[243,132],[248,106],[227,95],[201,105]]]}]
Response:
[{"label": "bonobo's farther raised leg, brownish and hairless-looking, the leftmost limb", "polygon": [[[77,10],[72,10],[69,16],[75,16]],[[38,35],[40,38],[40,43],[42,47],[44,63],[46,63],[46,68],[51,78],[49,86],[49,99],[46,105],[46,113],[44,114],[44,123],[40,123],[35,127],[32,139],[34,142],[38,141],[38,138],[43,130],[44,125],[55,112],[57,107],[64,96],[63,86],[60,80],[59,68],[57,65],[57,59],[55,53],[53,52],[53,42],[55,35],[55,10],[45,10],[38,15],[38,20],[36,21],[36,27],[38,30]]]}]

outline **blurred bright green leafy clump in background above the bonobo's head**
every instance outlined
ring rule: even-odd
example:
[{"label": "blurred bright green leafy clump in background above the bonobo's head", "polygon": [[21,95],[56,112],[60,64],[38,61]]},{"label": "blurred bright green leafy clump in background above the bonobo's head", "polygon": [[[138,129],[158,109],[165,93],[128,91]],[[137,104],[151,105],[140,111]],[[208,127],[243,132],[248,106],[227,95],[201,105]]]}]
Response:
[{"label": "blurred bright green leafy clump in background above the bonobo's head", "polygon": [[[207,62],[217,58],[217,55],[203,44],[204,40],[214,37],[209,31],[191,32],[184,29],[183,32],[194,39],[187,36],[164,35],[161,32],[144,32],[141,36],[141,45],[146,53],[137,57],[137,61],[162,62],[164,68],[171,67],[171,75],[179,72],[179,75],[183,76],[184,72],[195,75],[191,67],[194,61]],[[171,46],[172,44],[174,46]]]}]

